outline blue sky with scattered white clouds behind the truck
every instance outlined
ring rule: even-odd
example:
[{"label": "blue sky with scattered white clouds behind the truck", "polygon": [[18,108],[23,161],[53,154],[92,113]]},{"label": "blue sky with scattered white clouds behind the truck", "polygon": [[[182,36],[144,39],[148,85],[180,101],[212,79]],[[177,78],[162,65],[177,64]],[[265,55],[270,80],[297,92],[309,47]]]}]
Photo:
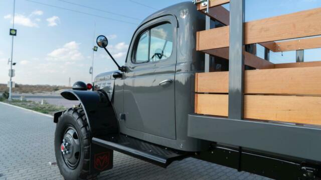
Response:
[{"label": "blue sky with scattered white clouds behind the truck", "polygon": [[[107,48],[123,65],[132,34],[141,20],[183,1],[186,0],[16,0],[18,33],[14,37],[13,61],[17,65],[13,80],[20,84],[68,85],[70,77],[71,83],[90,82],[92,47],[98,35],[108,37]],[[7,63],[11,56],[9,29],[13,25],[13,2],[0,0],[0,83],[9,80]],[[245,2],[246,21],[321,7],[321,0]],[[228,5],[224,7],[229,9]],[[263,48],[258,47],[257,51],[259,56],[264,56]],[[321,49],[310,49],[305,50],[304,58],[305,61],[321,60],[320,55]],[[295,51],[283,52],[283,55],[271,53],[270,58],[274,63],[294,62]],[[115,69],[106,52],[98,48],[94,52],[94,76]]]}]

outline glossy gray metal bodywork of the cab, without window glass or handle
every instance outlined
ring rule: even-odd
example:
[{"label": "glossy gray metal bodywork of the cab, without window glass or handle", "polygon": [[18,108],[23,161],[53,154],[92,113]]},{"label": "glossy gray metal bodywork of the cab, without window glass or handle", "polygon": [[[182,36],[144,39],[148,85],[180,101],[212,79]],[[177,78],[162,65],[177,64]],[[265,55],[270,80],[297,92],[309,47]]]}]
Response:
[{"label": "glossy gray metal bodywork of the cab, without window glass or handle", "polygon": [[[137,35],[163,20],[169,20],[174,26],[171,58],[132,64],[131,53]],[[187,115],[194,112],[195,72],[204,71],[204,54],[196,51],[196,31],[204,29],[205,16],[192,2],[167,7],[143,20],[128,49],[125,63],[128,71],[123,72],[122,78],[115,79],[112,102],[120,132],[180,150],[207,149],[208,143],[204,140],[187,136]],[[95,79],[111,74],[102,73]],[[174,82],[168,86],[158,85],[168,78],[173,78]],[[126,115],[125,120],[119,119],[120,113]]]}]

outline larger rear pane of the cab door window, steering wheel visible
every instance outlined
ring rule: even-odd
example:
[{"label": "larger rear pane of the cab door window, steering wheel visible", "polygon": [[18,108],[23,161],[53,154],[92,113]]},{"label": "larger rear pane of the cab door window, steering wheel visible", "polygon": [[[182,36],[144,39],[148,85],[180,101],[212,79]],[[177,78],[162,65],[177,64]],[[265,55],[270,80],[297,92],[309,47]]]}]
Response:
[{"label": "larger rear pane of the cab door window, steering wheel visible", "polygon": [[149,61],[167,59],[173,49],[173,29],[170,23],[150,29]]}]

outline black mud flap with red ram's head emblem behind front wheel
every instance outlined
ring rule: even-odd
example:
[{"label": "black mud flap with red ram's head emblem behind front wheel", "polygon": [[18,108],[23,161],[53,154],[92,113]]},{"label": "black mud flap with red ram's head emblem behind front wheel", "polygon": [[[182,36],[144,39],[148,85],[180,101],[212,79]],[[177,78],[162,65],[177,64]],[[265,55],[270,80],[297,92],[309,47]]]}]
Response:
[{"label": "black mud flap with red ram's head emblem behind front wheel", "polygon": [[90,173],[99,173],[113,167],[113,150],[91,143]]}]

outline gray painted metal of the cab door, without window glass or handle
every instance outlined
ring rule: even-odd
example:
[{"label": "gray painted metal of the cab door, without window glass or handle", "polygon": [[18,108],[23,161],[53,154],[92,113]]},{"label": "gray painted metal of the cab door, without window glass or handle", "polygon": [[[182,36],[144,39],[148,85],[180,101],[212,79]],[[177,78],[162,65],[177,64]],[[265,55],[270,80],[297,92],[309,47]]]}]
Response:
[{"label": "gray painted metal of the cab door, without window glass or handle", "polygon": [[148,21],[137,29],[129,49],[124,73],[125,126],[156,136],[176,139],[175,128],[175,83],[159,85],[166,79],[175,79],[176,48],[164,60],[133,63],[134,43],[140,32],[155,25],[171,22],[173,47],[177,41],[177,19],[166,15]]}]

